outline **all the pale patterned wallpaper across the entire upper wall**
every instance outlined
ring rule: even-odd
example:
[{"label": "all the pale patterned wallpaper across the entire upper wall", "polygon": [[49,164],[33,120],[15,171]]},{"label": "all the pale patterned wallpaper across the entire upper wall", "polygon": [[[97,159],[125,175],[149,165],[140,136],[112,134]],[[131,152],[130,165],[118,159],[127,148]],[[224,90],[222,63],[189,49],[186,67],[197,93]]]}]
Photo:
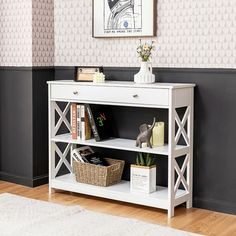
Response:
[{"label": "all the pale patterned wallpaper across the entire upper wall", "polygon": [[[236,68],[235,1],[158,0],[157,11],[153,66]],[[0,0],[0,66],[139,66],[138,38],[91,35],[92,0]]]}]

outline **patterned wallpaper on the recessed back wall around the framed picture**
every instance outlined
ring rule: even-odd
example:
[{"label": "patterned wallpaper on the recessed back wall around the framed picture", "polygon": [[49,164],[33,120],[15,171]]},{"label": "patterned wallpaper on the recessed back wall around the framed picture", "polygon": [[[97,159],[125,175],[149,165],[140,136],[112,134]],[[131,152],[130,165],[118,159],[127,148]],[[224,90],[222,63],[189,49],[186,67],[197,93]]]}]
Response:
[{"label": "patterned wallpaper on the recessed back wall around the framed picture", "polygon": [[[158,0],[157,67],[236,68],[232,0]],[[92,0],[55,0],[55,65],[138,66],[137,38],[92,38]]]}]

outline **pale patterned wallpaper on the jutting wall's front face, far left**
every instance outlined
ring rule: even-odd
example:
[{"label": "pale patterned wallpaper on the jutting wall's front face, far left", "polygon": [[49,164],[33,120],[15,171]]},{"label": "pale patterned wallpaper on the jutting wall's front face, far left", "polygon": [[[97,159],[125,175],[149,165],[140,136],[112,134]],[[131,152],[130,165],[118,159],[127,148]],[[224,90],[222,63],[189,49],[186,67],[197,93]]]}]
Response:
[{"label": "pale patterned wallpaper on the jutting wall's front face, far left", "polygon": [[31,0],[0,0],[0,66],[32,63]]}]

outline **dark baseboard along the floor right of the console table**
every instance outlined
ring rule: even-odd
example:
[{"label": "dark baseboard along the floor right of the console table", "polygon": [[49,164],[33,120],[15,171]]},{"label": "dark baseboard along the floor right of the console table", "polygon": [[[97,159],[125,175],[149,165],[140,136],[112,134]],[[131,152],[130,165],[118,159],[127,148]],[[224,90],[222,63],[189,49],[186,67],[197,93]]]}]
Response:
[{"label": "dark baseboard along the floor right of the console table", "polygon": [[236,214],[236,203],[226,202],[215,199],[203,199],[194,197],[193,206],[196,208],[207,209],[211,211],[224,212],[227,214]]}]

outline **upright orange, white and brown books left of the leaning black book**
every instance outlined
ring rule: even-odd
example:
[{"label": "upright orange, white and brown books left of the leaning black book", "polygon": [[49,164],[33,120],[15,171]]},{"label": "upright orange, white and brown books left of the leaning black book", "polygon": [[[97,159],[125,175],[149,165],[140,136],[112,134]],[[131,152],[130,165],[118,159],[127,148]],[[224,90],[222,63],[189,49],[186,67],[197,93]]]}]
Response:
[{"label": "upright orange, white and brown books left of the leaning black book", "polygon": [[71,104],[71,134],[72,139],[91,139],[90,122],[84,104]]}]

